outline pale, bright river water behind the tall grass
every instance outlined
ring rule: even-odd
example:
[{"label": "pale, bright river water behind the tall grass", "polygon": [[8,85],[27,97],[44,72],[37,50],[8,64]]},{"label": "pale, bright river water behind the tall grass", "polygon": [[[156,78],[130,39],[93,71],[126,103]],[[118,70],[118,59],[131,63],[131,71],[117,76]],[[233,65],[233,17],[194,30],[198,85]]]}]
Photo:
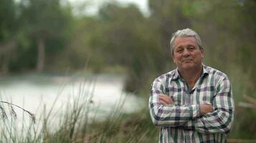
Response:
[{"label": "pale, bright river water behind the tall grass", "polygon": [[[72,110],[78,104],[89,106],[88,117],[94,119],[108,117],[116,105],[120,105],[119,112],[139,110],[145,101],[123,92],[123,87],[124,77],[109,74],[19,74],[0,78],[1,101],[27,109],[36,115],[37,121],[49,113],[58,120],[66,109]],[[24,122],[24,112],[14,110]]]}]

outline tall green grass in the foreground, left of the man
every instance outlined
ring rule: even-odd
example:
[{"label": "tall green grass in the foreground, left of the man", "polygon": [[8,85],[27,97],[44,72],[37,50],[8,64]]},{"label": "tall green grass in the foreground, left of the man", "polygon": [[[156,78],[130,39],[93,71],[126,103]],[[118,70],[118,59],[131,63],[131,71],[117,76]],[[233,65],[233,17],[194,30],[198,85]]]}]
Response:
[{"label": "tall green grass in the foreground, left of the man", "polygon": [[[76,96],[54,110],[58,95],[48,112],[45,106],[42,113],[36,113],[36,124],[26,114],[22,116],[21,128],[19,119],[2,120],[0,142],[157,142],[157,128],[151,124],[147,105],[131,114],[122,112],[129,96],[122,95],[119,102],[109,107],[109,113],[99,116],[99,105],[93,103],[94,87],[93,82],[82,82],[78,93],[73,93]],[[6,111],[12,112],[8,107]]]}]

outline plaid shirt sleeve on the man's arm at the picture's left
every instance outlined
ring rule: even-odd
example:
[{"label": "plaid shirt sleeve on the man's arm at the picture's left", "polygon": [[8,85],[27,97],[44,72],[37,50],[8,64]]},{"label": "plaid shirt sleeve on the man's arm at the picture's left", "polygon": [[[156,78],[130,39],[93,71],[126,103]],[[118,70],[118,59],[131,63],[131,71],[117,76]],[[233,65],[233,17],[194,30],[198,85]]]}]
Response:
[{"label": "plaid shirt sleeve on the man's arm at the picture's left", "polygon": [[164,89],[165,86],[160,79],[155,79],[151,85],[149,108],[153,124],[156,126],[176,127],[200,116],[199,105],[163,105],[160,102],[159,95],[166,94]]}]

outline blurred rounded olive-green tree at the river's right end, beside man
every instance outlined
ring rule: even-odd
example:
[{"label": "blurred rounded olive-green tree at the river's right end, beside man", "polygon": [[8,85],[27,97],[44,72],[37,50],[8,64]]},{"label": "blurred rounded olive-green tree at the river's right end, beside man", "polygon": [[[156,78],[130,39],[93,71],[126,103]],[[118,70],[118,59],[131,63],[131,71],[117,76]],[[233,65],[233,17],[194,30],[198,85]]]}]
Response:
[{"label": "blurred rounded olive-green tree at the river's right end, beside man", "polygon": [[125,89],[138,92],[147,87],[150,74],[165,69],[157,29],[134,6],[106,4],[99,11],[103,31],[99,44],[108,64],[127,67]]}]

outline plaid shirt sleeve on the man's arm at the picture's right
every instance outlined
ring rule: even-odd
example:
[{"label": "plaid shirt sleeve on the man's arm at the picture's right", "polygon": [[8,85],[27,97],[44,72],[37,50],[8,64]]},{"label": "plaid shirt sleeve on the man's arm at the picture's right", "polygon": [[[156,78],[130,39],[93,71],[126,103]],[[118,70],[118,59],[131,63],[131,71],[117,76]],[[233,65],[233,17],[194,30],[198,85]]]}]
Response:
[{"label": "plaid shirt sleeve on the man's arm at the picture's right", "polygon": [[213,99],[214,112],[193,119],[185,124],[187,129],[201,133],[228,133],[234,118],[234,100],[229,79],[225,77],[217,86]]}]

